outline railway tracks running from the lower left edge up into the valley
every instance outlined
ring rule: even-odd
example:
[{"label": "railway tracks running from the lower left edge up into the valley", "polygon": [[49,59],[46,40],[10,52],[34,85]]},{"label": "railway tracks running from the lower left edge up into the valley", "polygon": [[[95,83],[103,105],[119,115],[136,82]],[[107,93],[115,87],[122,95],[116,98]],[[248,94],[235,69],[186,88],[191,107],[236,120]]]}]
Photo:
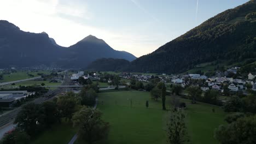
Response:
[{"label": "railway tracks running from the lower left edge up into the valley", "polygon": [[[71,80],[69,79],[69,76],[66,73],[61,85],[69,85],[70,82],[71,82]],[[31,102],[36,103],[36,104],[41,104],[44,101],[53,99],[55,97],[55,95],[62,93],[64,91],[64,89],[65,88],[54,89],[53,91],[49,91],[48,93],[45,93],[42,97],[34,99]],[[0,115],[0,139],[2,139],[4,133],[6,133],[7,131],[9,131],[13,128],[12,126],[13,126],[14,119],[18,115],[20,110],[21,110],[21,107],[17,107],[14,110],[11,110],[7,113],[4,113],[3,115]]]}]

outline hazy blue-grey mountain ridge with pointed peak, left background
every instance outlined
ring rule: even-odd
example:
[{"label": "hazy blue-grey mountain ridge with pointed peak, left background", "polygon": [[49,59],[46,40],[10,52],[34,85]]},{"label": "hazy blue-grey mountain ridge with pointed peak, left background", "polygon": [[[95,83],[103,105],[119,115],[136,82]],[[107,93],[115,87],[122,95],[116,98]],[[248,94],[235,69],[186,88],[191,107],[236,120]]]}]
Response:
[{"label": "hazy blue-grey mountain ridge with pointed peak, left background", "polygon": [[8,21],[0,21],[0,66],[31,67],[39,64],[63,68],[86,67],[98,58],[136,57],[112,49],[105,41],[89,35],[77,44],[62,47],[45,32],[30,33]]}]

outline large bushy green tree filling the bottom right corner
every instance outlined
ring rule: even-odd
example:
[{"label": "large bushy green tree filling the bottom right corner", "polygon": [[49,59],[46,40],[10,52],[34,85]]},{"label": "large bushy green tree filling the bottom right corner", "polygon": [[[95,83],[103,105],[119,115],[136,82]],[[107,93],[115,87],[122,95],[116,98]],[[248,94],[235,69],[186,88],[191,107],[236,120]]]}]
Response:
[{"label": "large bushy green tree filling the bottom right corner", "polygon": [[214,137],[223,144],[253,144],[256,142],[256,116],[238,118],[228,125],[220,125]]}]

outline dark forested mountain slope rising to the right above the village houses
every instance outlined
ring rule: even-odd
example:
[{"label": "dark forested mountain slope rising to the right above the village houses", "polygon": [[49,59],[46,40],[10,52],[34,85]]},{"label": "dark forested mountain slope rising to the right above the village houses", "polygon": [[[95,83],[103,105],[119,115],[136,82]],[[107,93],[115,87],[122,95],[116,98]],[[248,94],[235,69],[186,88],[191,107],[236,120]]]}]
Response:
[{"label": "dark forested mountain slope rising to the right above the village houses", "polygon": [[158,50],[137,58],[130,71],[179,73],[216,60],[256,58],[256,1],[229,9]]}]

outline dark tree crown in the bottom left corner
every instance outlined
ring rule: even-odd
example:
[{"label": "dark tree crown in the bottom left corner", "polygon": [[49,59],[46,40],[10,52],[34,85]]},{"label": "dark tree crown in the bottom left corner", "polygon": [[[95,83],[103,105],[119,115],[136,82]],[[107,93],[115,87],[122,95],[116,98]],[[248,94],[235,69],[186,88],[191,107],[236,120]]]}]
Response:
[{"label": "dark tree crown in the bottom left corner", "polygon": [[30,143],[30,136],[25,131],[14,130],[5,135],[0,141],[1,144],[27,144]]}]

